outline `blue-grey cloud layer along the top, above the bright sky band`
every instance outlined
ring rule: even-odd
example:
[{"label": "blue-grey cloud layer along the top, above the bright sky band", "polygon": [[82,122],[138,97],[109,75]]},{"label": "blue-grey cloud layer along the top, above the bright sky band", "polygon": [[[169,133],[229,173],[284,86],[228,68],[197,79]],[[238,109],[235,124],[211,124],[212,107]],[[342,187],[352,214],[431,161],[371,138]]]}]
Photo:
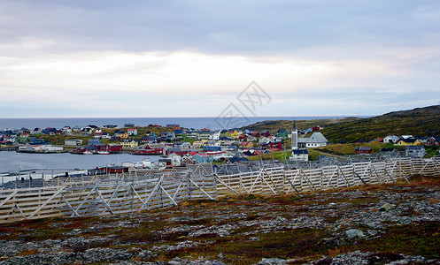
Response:
[{"label": "blue-grey cloud layer along the top, above the bright sky band", "polygon": [[438,40],[431,1],[13,1],[1,4],[2,42],[47,38],[52,49],[188,49],[219,54],[300,54],[344,46]]}]

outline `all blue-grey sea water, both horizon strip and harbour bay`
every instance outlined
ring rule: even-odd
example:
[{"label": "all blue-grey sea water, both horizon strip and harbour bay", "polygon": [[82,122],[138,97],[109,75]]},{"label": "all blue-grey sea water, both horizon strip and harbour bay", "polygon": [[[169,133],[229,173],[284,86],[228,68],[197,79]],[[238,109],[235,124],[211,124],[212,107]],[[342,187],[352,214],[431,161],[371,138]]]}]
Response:
[{"label": "all blue-grey sea water, both horizon strip and harbour bay", "polygon": [[[54,127],[61,129],[64,126],[117,125],[126,124],[135,126],[177,124],[185,128],[210,130],[232,129],[251,125],[266,120],[307,120],[342,118],[342,116],[299,116],[299,117],[58,117],[58,118],[0,118],[0,130]],[[149,158],[157,161],[158,156]],[[11,170],[31,169],[94,169],[96,166],[120,164],[123,162],[141,162],[144,157],[138,155],[72,155],[72,154],[27,154],[13,151],[0,152],[0,173]]]}]

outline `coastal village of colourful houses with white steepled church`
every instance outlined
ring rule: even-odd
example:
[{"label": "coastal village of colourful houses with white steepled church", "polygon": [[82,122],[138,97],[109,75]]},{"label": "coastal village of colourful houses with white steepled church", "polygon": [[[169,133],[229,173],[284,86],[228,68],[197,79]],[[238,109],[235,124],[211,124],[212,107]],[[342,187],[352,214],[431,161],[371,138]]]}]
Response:
[{"label": "coastal village of colourful houses with white steepled church", "polygon": [[[117,125],[69,126],[63,128],[21,128],[0,131],[0,148],[27,153],[70,152],[75,155],[160,155],[159,168],[174,168],[197,163],[234,163],[266,159],[268,154],[285,163],[326,159],[328,156],[309,155],[310,150],[332,144],[321,127],[292,130],[270,129],[262,131],[218,130],[183,128],[179,124],[138,126]],[[440,145],[440,138],[413,135],[386,135],[370,142],[385,143],[379,152],[398,152],[412,157],[427,155],[425,147]],[[374,153],[370,146],[353,148],[354,154]],[[376,151],[377,152],[377,151]],[[135,161],[135,158],[134,158]],[[119,165],[118,165],[119,166]],[[105,170],[127,170],[129,167],[151,167],[151,163],[126,163],[124,167],[106,167]]]}]

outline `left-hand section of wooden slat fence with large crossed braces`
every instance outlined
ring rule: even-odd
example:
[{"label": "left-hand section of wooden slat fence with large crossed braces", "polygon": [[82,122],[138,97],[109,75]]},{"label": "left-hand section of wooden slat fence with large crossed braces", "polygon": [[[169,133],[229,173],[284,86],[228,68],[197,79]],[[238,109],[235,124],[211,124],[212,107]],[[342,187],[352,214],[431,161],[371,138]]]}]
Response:
[{"label": "left-hand section of wooden slat fence with large crossed braces", "polygon": [[177,205],[182,200],[217,199],[212,174],[185,170],[130,175],[59,178],[48,186],[0,190],[0,223],[54,216],[119,215]]}]

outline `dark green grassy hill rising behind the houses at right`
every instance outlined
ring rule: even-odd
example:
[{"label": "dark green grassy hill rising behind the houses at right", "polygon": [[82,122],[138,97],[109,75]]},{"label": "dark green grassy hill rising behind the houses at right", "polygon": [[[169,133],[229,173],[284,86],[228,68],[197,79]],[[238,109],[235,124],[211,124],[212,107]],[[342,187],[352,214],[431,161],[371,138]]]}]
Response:
[{"label": "dark green grassy hill rising behind the houses at right", "polygon": [[[299,129],[319,125],[320,131],[331,142],[370,141],[387,135],[412,134],[413,136],[440,136],[440,106],[429,106],[414,110],[394,111],[382,116],[341,119],[298,120]],[[243,127],[251,130],[269,130],[276,133],[278,129],[291,130],[293,121],[265,121]]]}]

